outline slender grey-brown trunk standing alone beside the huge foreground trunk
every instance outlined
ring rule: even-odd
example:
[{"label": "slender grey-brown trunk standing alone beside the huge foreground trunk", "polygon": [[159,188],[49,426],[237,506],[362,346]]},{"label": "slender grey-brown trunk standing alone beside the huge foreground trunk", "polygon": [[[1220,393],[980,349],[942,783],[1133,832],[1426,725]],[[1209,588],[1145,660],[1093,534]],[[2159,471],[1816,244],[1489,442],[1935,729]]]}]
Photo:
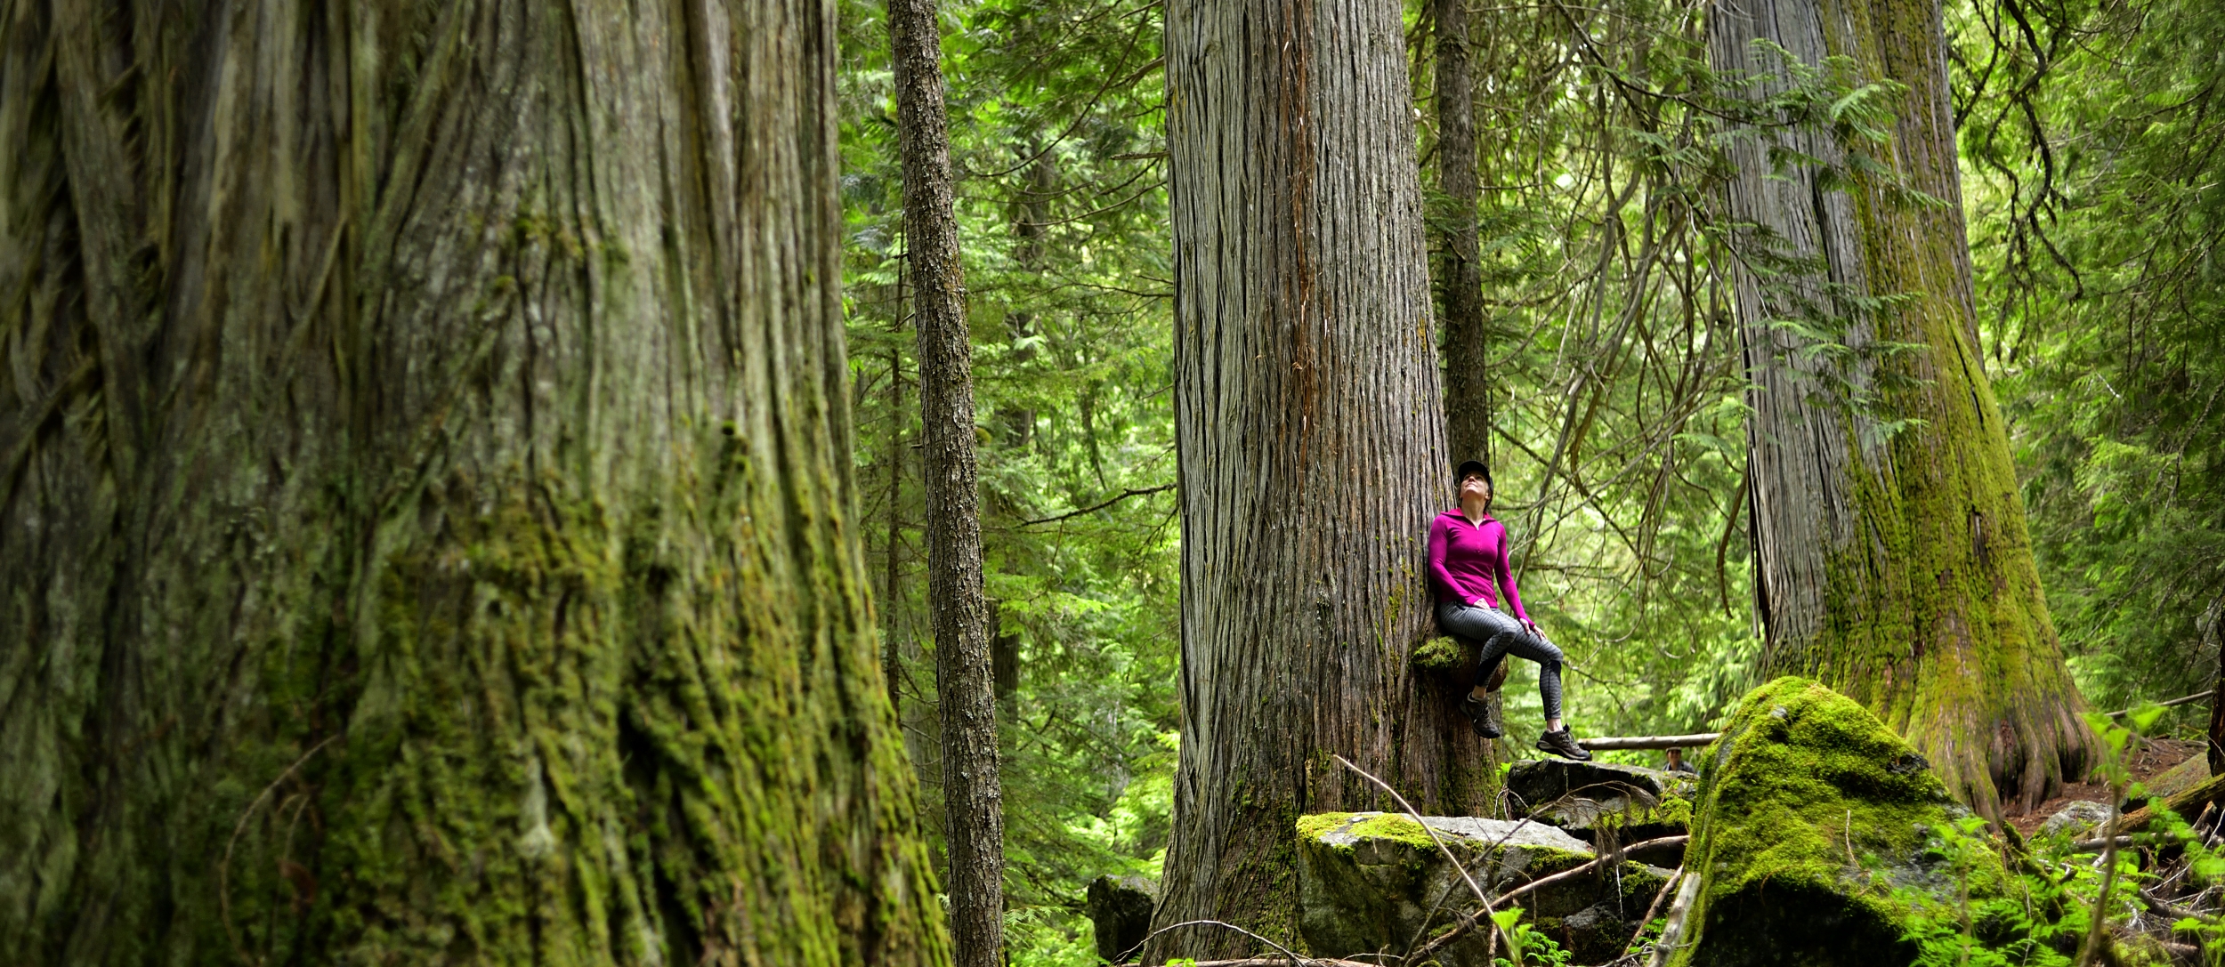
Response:
[{"label": "slender grey-brown trunk standing alone beside the huge foreground trunk", "polygon": [[950,118],[943,111],[943,42],[934,0],[890,0],[888,31],[903,162],[903,249],[912,267],[912,320],[919,331],[928,618],[934,625],[934,691],[943,740],[950,934],[959,967],[997,967],[1003,945],[997,696],[988,602],[981,591],[972,340],[952,211]]}]

